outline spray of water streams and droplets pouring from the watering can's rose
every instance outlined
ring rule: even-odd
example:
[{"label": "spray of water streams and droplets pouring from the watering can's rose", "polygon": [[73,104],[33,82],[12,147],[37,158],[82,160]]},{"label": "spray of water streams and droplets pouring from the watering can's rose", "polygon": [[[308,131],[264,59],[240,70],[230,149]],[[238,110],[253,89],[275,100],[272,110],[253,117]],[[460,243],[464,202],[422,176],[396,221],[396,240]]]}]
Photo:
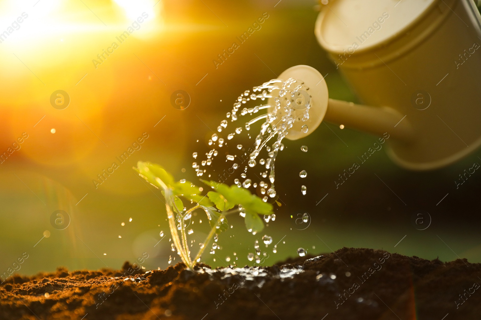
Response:
[{"label": "spray of water streams and droplets pouring from the watering can's rose", "polygon": [[[301,108],[301,102],[297,99],[297,97],[304,92],[305,90],[309,90],[309,88],[301,81],[295,79],[288,79],[287,81],[282,81],[280,79],[274,79],[268,81],[260,86],[253,87],[252,93],[250,90],[244,91],[238,98],[237,102],[234,103],[231,112],[227,113],[227,119],[223,119],[220,122],[218,132],[224,131],[229,126],[230,122],[240,121],[241,117],[246,115],[253,115],[258,113],[261,110],[267,109],[266,114],[259,115],[251,120],[245,122],[244,126],[233,126],[233,132],[227,132],[227,140],[230,141],[234,138],[235,135],[240,135],[243,132],[243,129],[247,131],[249,134],[249,130],[254,123],[257,121],[263,120],[264,122],[261,124],[261,130],[259,134],[254,139],[253,151],[249,149],[250,154],[244,153],[242,155],[236,154],[228,154],[226,156],[227,160],[234,160],[235,156],[238,159],[242,156],[248,156],[247,165],[250,168],[257,166],[258,164],[264,166],[266,168],[266,172],[261,173],[263,178],[267,178],[268,181],[266,183],[264,181],[260,181],[259,185],[261,186],[262,194],[267,194],[264,197],[264,201],[268,200],[268,197],[274,198],[277,195],[277,192],[274,187],[275,182],[275,162],[276,157],[279,151],[284,149],[284,145],[282,144],[282,139],[289,134],[289,130],[292,129],[294,123],[296,121],[307,121],[309,119],[309,108],[310,108],[310,97],[305,99],[304,109]],[[273,103],[271,104],[262,104],[267,98],[273,98]],[[244,107],[249,101],[258,102],[260,100],[260,104],[257,104],[254,107]],[[303,110],[303,114],[299,116],[298,111]],[[308,132],[308,127],[304,124],[301,128],[301,131],[304,133]],[[245,132],[245,131],[244,131]],[[223,132],[224,133],[224,132]],[[271,140],[274,140],[271,146],[267,145],[267,143]],[[209,145],[214,145],[218,143],[218,147],[221,148],[224,143],[224,139],[221,138],[217,133],[214,133],[209,140]],[[226,142],[227,143],[227,142]],[[235,144],[234,144],[235,145]],[[242,145],[237,144],[237,149],[241,150]],[[259,154],[263,149],[266,149],[267,158],[257,160]],[[243,149],[242,149],[243,150]],[[301,150],[307,152],[307,147],[302,146]],[[213,149],[206,153],[207,158],[212,163],[214,157],[218,154],[218,151]],[[196,158],[197,153],[193,154],[193,157]],[[202,162],[203,166],[204,162]],[[207,164],[207,162],[205,162]],[[193,163],[192,167],[195,169],[197,176],[203,176],[206,173],[206,169],[201,168],[201,166],[197,165],[197,163]],[[233,169],[237,169],[239,165],[234,164],[232,166]],[[248,167],[245,167],[244,173],[247,171]],[[270,172],[269,172],[270,170]],[[269,174],[267,175],[267,172]],[[304,171],[305,172],[305,171]],[[246,178],[246,175],[242,175],[242,178]],[[239,187],[249,188],[251,186],[256,186],[256,183],[252,183],[253,177],[246,179],[243,183],[237,179],[235,182]],[[304,178],[304,177],[303,177]],[[305,187],[303,186],[303,194],[305,194]],[[264,192],[262,192],[264,191]],[[268,196],[268,197],[267,197]],[[274,219],[272,219],[274,220]]]}]

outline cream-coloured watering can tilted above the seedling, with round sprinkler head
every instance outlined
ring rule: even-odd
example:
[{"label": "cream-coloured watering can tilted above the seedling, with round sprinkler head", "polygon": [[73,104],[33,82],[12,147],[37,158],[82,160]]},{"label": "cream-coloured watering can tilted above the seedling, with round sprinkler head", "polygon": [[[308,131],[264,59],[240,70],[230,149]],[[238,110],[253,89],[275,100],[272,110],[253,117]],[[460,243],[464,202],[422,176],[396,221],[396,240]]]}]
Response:
[{"label": "cream-coloured watering can tilted above the seedling, with round sprinkler head", "polygon": [[473,0],[321,3],[317,40],[363,105],[329,99],[316,69],[292,67],[279,79],[304,82],[311,116],[286,138],[303,138],[323,120],[387,133],[389,157],[411,170],[447,166],[480,146],[481,16]]}]

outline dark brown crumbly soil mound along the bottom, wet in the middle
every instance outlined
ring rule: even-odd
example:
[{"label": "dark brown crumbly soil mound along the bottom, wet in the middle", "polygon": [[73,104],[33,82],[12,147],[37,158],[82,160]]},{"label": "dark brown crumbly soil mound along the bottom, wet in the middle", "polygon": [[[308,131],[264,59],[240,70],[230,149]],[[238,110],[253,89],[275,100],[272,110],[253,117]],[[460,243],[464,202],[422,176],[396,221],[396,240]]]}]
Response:
[{"label": "dark brown crumbly soil mound along the bottom, wet in the middle", "polygon": [[120,271],[60,268],[55,273],[14,276],[0,284],[0,319],[465,320],[481,316],[481,264],[466,259],[443,263],[344,248],[272,267],[236,269],[235,275],[232,271],[206,265],[189,271],[177,264],[145,273],[126,262]]}]

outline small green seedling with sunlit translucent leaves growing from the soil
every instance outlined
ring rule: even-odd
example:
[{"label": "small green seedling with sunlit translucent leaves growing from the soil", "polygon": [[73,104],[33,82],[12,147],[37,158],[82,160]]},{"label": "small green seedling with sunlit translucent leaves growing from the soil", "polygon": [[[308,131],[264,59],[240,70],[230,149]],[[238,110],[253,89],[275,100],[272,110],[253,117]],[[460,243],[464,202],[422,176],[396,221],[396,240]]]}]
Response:
[{"label": "small green seedling with sunlit translucent leaves growing from the soil", "polygon": [[[139,161],[134,170],[140,177],[162,191],[172,240],[180,259],[190,269],[201,260],[202,253],[212,237],[229,228],[227,215],[240,213],[244,216],[247,230],[255,233],[264,228],[259,214],[272,213],[272,204],[262,201],[249,190],[239,188],[237,185],[229,187],[223,183],[201,180],[212,189],[206,195],[202,195],[199,187],[185,179],[175,181],[162,166]],[[185,208],[184,201],[189,202],[192,207]],[[197,255],[191,259],[185,221],[190,219],[195,210],[202,210],[207,214],[211,230]]]}]

